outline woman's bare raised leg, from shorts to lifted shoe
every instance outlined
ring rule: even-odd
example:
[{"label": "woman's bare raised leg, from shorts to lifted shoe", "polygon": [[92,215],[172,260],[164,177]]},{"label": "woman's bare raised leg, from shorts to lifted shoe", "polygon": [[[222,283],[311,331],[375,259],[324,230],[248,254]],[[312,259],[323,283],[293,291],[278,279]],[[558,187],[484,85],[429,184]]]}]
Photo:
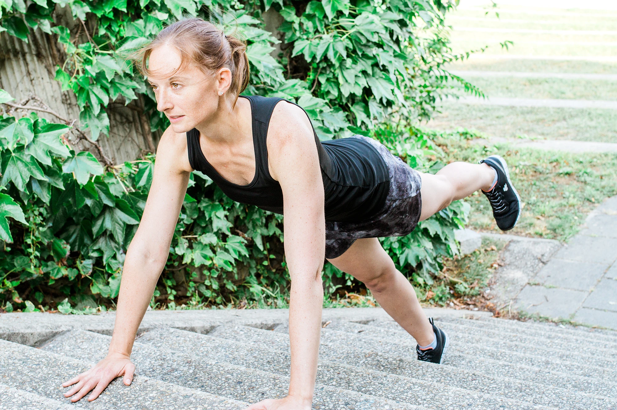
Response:
[{"label": "woman's bare raised leg, from shorts to lifted shoe", "polygon": [[487,164],[451,163],[437,174],[421,173],[421,178],[420,220],[424,220],[452,201],[466,198],[479,189],[490,190],[495,180],[495,170]]}]

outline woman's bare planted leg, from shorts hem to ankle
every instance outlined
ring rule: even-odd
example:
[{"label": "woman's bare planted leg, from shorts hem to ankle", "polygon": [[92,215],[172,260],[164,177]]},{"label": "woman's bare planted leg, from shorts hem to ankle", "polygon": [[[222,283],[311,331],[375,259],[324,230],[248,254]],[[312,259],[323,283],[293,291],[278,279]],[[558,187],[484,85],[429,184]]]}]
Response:
[{"label": "woman's bare planted leg, from shorts hem to ankle", "polygon": [[362,281],[379,305],[420,346],[433,342],[433,326],[426,319],[412,284],[394,267],[377,238],[357,239],[344,254],[328,261]]}]

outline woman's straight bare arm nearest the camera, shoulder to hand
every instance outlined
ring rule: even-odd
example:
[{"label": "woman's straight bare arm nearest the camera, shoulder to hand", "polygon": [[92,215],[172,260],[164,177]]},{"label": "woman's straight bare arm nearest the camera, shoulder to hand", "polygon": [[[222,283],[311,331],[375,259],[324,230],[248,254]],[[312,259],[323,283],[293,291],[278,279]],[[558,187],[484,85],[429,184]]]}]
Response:
[{"label": "woman's straight bare arm nearest the camera, shoulder to hand", "polygon": [[315,137],[304,111],[279,103],[270,123],[277,126],[268,133],[268,162],[272,177],[283,190],[284,247],[291,276],[291,380],[286,398],[264,400],[247,410],[309,410],[317,376],[323,305],[323,181]]}]

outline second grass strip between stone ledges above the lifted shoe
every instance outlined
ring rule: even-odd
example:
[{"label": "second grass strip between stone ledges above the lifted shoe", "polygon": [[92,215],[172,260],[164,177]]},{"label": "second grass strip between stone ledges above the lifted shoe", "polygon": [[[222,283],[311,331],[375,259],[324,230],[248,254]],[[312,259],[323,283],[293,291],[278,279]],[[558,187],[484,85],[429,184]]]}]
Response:
[{"label": "second grass strip between stone ledges above the lifted shoe", "polygon": [[[617,100],[617,81],[462,75],[488,97]],[[460,95],[465,95],[462,91]]]}]

